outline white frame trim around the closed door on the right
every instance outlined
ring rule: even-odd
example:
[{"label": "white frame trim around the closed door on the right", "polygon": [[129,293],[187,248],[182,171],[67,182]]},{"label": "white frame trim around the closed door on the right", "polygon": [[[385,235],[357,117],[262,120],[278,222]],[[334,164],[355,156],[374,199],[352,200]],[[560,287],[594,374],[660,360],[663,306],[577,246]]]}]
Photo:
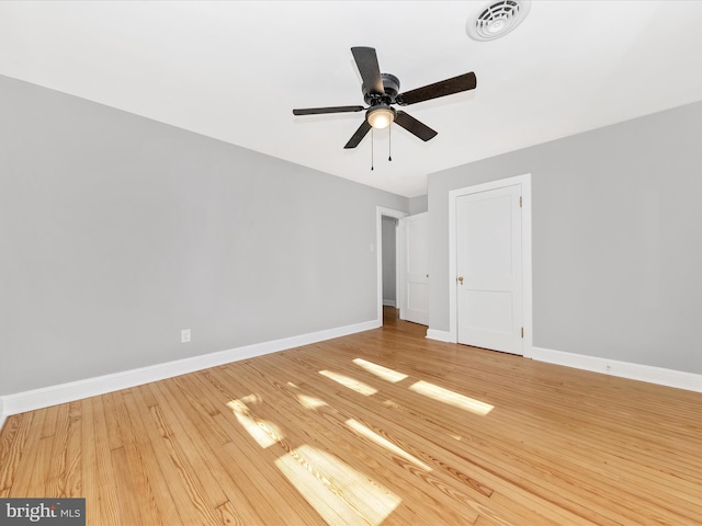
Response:
[{"label": "white frame trim around the closed door on the right", "polygon": [[521,184],[522,186],[522,313],[524,323],[523,356],[532,357],[533,312],[532,312],[532,268],[531,268],[531,173],[500,179],[449,192],[449,340],[458,341],[458,309],[456,307],[456,198]]}]

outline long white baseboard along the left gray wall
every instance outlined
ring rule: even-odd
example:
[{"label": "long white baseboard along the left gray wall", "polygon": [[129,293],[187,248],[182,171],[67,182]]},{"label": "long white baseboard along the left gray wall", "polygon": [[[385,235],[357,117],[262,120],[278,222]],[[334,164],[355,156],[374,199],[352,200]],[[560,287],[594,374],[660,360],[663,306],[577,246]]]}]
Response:
[{"label": "long white baseboard along the left gray wall", "polygon": [[216,367],[218,365],[238,362],[240,359],[262,356],[264,354],[276,353],[287,348],[309,345],[333,338],[346,336],[356,332],[370,331],[381,327],[378,320],[355,323],[352,325],[327,329],[324,331],[301,334],[297,336],[273,340],[270,342],[254,343],[242,347],[219,351],[216,353],[193,356],[190,358],[167,362],[163,364],[140,367],[112,375],[87,378],[84,380],[60,384],[57,386],[43,387],[31,391],[3,395],[0,397],[0,430],[5,419],[11,414],[33,411],[35,409],[47,408],[58,403],[71,402],[83,398],[104,395],[105,392],[118,391],[134,386],[140,386],[150,381],[162,380],[173,376],[180,376],[195,370]]}]

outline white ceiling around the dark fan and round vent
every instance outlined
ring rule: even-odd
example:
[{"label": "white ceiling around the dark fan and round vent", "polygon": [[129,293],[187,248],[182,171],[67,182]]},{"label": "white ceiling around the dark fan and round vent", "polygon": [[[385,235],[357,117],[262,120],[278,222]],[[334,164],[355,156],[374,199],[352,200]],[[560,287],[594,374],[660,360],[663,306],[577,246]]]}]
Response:
[{"label": "white ceiling around the dark fan and round vent", "polygon": [[[0,2],[0,75],[34,82],[405,196],[427,174],[702,100],[702,1],[540,1],[492,42],[486,1]],[[377,49],[400,91],[475,71],[476,90],[405,111],[343,145],[363,113],[352,46]]]}]

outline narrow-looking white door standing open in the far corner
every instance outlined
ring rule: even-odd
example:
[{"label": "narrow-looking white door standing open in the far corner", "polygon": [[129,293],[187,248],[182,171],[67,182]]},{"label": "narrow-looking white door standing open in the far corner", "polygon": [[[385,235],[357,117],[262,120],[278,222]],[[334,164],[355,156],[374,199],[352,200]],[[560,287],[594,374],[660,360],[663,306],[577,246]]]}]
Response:
[{"label": "narrow-looking white door standing open in the far corner", "polygon": [[429,214],[399,220],[400,307],[399,317],[429,324]]}]

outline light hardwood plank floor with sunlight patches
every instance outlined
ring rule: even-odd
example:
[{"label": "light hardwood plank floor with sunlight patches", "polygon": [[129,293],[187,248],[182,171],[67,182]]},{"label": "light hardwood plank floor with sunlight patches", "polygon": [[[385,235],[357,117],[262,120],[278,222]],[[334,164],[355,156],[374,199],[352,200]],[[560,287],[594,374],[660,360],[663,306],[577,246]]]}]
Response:
[{"label": "light hardwood plank floor with sunlight patches", "polygon": [[89,525],[702,524],[702,395],[383,329],[8,419]]}]

